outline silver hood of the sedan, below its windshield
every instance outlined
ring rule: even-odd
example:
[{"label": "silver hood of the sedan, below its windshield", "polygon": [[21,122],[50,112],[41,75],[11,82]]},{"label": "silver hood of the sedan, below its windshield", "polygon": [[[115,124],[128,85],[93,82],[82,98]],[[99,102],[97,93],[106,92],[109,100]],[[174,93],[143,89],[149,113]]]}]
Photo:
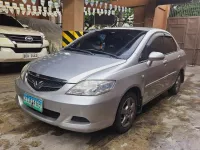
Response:
[{"label": "silver hood of the sedan, below its windshield", "polygon": [[75,52],[59,52],[30,63],[29,71],[77,83],[99,71],[122,64],[126,60],[84,55]]}]

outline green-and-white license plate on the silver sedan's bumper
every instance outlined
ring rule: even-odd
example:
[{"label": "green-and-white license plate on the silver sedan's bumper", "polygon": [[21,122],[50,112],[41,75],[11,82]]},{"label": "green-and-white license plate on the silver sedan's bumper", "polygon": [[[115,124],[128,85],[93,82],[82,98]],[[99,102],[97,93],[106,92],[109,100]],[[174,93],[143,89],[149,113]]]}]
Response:
[{"label": "green-and-white license plate on the silver sedan's bumper", "polygon": [[24,105],[35,109],[36,111],[43,112],[43,100],[40,98],[36,98],[29,94],[24,94]]}]

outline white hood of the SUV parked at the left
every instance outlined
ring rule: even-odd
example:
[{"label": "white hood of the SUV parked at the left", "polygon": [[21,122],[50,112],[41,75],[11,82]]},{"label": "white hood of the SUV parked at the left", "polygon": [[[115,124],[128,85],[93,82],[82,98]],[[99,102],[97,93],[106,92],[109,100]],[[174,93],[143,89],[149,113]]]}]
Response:
[{"label": "white hood of the SUV parked at the left", "polygon": [[9,26],[0,26],[0,34],[41,36],[41,33],[35,30],[18,28],[18,27],[9,27]]}]

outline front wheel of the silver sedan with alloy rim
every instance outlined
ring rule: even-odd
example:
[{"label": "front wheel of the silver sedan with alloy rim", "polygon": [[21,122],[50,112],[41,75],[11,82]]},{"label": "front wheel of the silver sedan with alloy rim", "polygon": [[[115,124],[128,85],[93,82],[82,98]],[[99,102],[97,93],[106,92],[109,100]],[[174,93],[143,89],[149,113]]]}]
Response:
[{"label": "front wheel of the silver sedan with alloy rim", "polygon": [[121,100],[114,122],[114,128],[118,133],[127,132],[133,124],[136,116],[137,96],[128,92]]}]

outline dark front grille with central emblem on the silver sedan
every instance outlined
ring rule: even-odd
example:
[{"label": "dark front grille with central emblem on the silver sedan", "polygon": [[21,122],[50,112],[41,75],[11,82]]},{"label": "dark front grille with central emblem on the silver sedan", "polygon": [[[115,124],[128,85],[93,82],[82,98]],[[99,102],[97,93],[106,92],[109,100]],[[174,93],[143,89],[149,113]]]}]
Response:
[{"label": "dark front grille with central emblem on the silver sedan", "polygon": [[34,72],[28,72],[27,82],[34,90],[41,92],[57,91],[67,83],[65,80],[38,75]]}]

